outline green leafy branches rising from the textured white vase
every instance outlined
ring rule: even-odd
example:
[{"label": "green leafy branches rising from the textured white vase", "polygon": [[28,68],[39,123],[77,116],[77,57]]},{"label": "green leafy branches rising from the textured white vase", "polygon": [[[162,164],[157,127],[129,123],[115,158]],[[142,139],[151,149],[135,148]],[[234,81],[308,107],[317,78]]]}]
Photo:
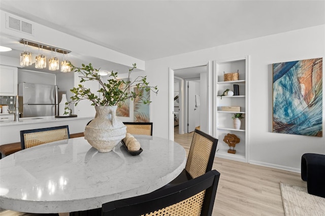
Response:
[{"label": "green leafy branches rising from the textured white vase", "polygon": [[[74,87],[70,91],[74,93],[72,100],[66,102],[66,110],[69,109],[70,103],[78,104],[80,100],[88,99],[94,106],[113,106],[119,105],[120,102],[125,101],[128,98],[132,100],[136,97],[139,97],[144,104],[150,103],[151,101],[146,98],[141,90],[146,92],[152,91],[158,93],[157,86],[149,86],[147,82],[147,77],[139,76],[134,81],[131,82],[130,76],[132,71],[137,68],[136,63],[133,64],[133,67],[128,70],[127,80],[117,79],[117,72],[112,71],[111,75],[107,82],[103,82],[101,75],[99,74],[99,69],[93,68],[91,63],[89,65],[82,64],[82,67],[76,67],[70,64],[72,70],[78,73],[81,73],[83,77],[81,78],[80,83],[86,81],[97,81],[100,84],[100,89],[96,92],[99,92],[101,97],[91,92],[89,88],[84,87],[82,84],[79,84],[78,87]],[[136,87],[138,91],[129,91],[133,87]],[[69,114],[67,111],[64,114]]]}]

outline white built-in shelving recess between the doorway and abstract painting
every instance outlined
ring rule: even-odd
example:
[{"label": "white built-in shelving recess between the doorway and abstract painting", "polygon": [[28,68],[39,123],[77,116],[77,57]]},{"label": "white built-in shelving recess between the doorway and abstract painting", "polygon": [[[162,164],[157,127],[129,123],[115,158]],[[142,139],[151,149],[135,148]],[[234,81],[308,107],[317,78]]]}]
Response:
[{"label": "white built-in shelving recess between the doorway and abstract painting", "polygon": [[[214,136],[218,138],[216,156],[241,162],[248,161],[248,65],[248,56],[214,61]],[[237,81],[224,81],[224,73],[236,73],[237,70],[239,70]],[[239,95],[218,96],[226,89],[234,91],[234,84],[239,86]],[[240,111],[222,111],[222,106],[240,106]],[[233,126],[232,117],[235,113],[242,113],[244,117],[240,129],[234,129]],[[228,133],[240,138],[240,142],[235,147],[236,154],[228,153],[229,146],[223,141]]]}]

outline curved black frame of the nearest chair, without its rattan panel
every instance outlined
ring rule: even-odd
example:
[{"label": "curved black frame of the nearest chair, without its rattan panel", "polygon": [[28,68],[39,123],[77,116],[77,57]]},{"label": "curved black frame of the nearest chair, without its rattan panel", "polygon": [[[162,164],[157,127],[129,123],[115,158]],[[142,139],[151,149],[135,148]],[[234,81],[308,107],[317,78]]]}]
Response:
[{"label": "curved black frame of the nearest chair, without its rattan panel", "polygon": [[201,215],[211,215],[219,177],[220,173],[218,171],[211,170],[204,175],[174,187],[154,191],[137,197],[105,203],[102,206],[102,215],[142,215],[179,203],[204,190],[206,190],[206,192]]}]

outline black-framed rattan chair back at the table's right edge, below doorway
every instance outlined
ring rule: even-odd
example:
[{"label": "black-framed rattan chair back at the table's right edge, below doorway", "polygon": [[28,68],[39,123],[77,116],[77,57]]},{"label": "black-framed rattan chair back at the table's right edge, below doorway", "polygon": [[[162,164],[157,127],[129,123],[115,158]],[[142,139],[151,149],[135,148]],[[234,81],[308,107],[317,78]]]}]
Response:
[{"label": "black-framed rattan chair back at the table's right edge, below doorway", "polygon": [[218,139],[196,129],[189,149],[185,170],[196,178],[212,169]]}]

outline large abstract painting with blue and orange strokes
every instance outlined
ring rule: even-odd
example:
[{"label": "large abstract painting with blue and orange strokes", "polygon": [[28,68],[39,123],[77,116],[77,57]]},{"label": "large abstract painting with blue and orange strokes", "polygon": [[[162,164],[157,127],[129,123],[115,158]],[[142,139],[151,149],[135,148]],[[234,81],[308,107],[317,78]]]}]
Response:
[{"label": "large abstract painting with blue and orange strokes", "polygon": [[322,58],[273,64],[273,132],[322,137]]}]

